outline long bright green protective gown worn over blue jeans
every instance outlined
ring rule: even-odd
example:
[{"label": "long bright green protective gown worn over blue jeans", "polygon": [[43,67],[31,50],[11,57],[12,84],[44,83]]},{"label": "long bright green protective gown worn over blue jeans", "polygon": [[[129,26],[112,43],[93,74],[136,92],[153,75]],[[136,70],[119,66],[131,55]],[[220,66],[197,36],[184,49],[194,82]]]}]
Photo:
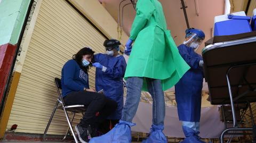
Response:
[{"label": "long bright green protective gown worn over blue jeans", "polygon": [[[163,90],[170,89],[189,69],[167,30],[163,8],[158,0],[138,0],[130,39],[135,40],[125,79],[161,79]],[[146,81],[143,91],[147,91]]]}]

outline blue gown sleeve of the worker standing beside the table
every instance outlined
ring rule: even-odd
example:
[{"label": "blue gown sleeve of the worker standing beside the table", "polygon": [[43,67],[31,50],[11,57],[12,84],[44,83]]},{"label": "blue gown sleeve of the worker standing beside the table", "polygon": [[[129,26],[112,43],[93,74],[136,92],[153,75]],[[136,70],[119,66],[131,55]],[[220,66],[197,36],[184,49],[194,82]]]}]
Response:
[{"label": "blue gown sleeve of the worker standing beside the table", "polygon": [[191,69],[199,69],[199,61],[201,60],[198,56],[191,56],[189,49],[185,46],[179,46],[179,53]]}]

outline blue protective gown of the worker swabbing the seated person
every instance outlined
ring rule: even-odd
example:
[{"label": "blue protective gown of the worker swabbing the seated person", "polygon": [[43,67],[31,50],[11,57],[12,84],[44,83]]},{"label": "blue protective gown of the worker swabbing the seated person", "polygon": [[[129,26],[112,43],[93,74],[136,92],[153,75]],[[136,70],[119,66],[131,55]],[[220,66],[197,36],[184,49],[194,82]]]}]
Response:
[{"label": "blue protective gown of the worker swabbing the seated person", "polygon": [[107,54],[95,54],[94,62],[99,62],[107,68],[105,72],[98,68],[96,69],[96,90],[103,89],[106,97],[115,100],[118,104],[117,110],[108,119],[119,120],[124,106],[123,78],[126,69],[125,59],[121,55],[114,57]]}]

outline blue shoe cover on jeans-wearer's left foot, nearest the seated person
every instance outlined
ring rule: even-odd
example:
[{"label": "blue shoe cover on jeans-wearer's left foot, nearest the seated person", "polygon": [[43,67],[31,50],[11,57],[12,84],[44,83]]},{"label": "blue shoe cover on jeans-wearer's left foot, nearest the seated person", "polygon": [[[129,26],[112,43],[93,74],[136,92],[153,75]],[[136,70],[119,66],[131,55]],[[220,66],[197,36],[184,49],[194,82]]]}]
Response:
[{"label": "blue shoe cover on jeans-wearer's left foot, nearest the seated person", "polygon": [[131,127],[135,124],[120,120],[108,133],[92,138],[89,143],[131,143]]}]

